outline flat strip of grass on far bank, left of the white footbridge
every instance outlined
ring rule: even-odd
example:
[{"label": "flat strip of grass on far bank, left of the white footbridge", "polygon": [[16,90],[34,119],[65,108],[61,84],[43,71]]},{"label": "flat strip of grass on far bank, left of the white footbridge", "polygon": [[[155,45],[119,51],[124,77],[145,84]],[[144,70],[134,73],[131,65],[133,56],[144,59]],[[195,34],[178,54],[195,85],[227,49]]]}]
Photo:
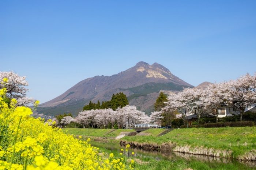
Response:
[{"label": "flat strip of grass on far bank, left of the white footbridge", "polygon": [[81,129],[81,128],[64,128],[66,134],[84,135],[91,137],[117,137],[121,133],[133,132],[133,129]]}]

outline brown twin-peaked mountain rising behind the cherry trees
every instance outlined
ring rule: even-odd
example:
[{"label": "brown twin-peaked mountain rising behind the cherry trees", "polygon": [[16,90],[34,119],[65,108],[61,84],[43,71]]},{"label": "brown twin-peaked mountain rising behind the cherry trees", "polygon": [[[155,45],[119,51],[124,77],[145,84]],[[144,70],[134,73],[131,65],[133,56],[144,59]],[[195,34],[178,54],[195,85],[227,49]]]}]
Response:
[{"label": "brown twin-peaked mountain rising behind the cherry trees", "polygon": [[82,80],[60,96],[39,105],[37,112],[46,115],[64,112],[78,114],[90,100],[107,101],[113,94],[124,92],[130,105],[149,113],[153,111],[160,90],[181,91],[186,87],[193,86],[173,75],[161,64],[139,62],[112,76],[94,76]]}]

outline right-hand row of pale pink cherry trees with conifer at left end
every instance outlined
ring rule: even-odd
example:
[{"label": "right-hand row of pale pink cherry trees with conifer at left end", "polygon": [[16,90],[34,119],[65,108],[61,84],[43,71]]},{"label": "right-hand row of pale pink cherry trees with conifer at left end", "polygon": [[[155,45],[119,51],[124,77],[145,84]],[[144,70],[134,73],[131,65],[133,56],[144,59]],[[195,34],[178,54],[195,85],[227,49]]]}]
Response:
[{"label": "right-hand row of pale pink cherry trees with conifer at left end", "polygon": [[256,74],[243,75],[236,80],[214,83],[206,88],[185,88],[179,93],[163,93],[155,103],[155,119],[169,124],[177,115],[185,122],[185,117],[197,115],[197,123],[202,117],[214,116],[219,119],[219,109],[226,107],[231,115],[240,116],[242,121],[245,108],[256,103]]}]

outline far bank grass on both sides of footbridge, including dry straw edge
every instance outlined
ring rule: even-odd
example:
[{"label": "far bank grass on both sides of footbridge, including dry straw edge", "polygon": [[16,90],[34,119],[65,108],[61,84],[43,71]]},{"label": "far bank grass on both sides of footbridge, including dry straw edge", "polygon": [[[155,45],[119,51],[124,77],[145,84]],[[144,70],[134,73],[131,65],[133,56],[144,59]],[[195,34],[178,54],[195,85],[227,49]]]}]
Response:
[{"label": "far bank grass on both sides of footbridge, including dry straw edge", "polygon": [[[67,128],[63,131],[67,134],[113,138],[122,132],[134,130]],[[159,137],[158,134],[163,131],[165,129],[148,129],[135,136],[125,136],[120,143],[146,150],[177,151],[256,161],[255,126],[173,129]]]}]

